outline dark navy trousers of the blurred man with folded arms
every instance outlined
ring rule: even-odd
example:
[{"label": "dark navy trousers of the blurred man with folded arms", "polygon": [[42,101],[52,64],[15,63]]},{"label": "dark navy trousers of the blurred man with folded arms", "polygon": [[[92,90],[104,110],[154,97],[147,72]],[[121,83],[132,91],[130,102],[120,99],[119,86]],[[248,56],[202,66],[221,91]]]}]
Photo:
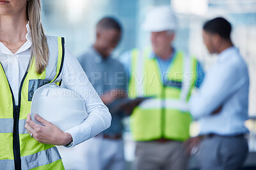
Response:
[{"label": "dark navy trousers of the blurred man with folded arms", "polygon": [[211,136],[204,138],[198,150],[201,170],[236,170],[243,167],[248,143],[243,136]]}]

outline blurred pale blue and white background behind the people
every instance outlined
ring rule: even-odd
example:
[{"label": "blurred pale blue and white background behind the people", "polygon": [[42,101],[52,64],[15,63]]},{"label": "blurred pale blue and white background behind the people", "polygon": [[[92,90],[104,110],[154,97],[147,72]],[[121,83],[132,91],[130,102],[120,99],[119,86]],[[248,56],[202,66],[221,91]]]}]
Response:
[{"label": "blurred pale blue and white background behind the people", "polygon": [[[114,52],[119,57],[126,50],[150,45],[148,32],[141,24],[150,8],[171,5],[179,18],[175,47],[196,55],[205,71],[216,60],[210,57],[202,41],[202,24],[213,17],[225,17],[233,26],[232,40],[239,48],[250,71],[250,120],[246,122],[250,152],[256,152],[256,0],[43,0],[42,21],[47,34],[65,37],[65,44],[76,57],[95,39],[95,24],[100,18],[117,18],[124,29],[122,41]],[[228,81],[228,80],[227,80]],[[127,123],[129,120],[124,120]],[[192,128],[195,134],[196,126]],[[72,169],[72,150],[60,148],[67,169]],[[134,145],[129,128],[125,132],[125,159],[132,162]],[[71,154],[71,155],[70,155]],[[253,157],[256,164],[256,156]],[[252,160],[253,160],[252,159]],[[248,166],[253,161],[248,160]],[[127,168],[128,169],[128,168]]]}]

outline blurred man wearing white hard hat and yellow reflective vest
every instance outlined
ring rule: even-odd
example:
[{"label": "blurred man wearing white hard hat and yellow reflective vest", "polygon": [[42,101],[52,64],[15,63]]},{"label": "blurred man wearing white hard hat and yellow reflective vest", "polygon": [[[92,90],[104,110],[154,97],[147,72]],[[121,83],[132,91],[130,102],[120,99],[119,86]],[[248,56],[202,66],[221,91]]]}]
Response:
[{"label": "blurred man wearing white hard hat and yellow reflective vest", "polygon": [[170,6],[152,9],[143,24],[151,32],[152,49],[133,49],[120,60],[129,72],[129,96],[151,97],[134,109],[131,132],[136,141],[136,169],[186,169],[183,141],[192,121],[191,90],[204,77],[193,57],[172,46],[177,18]]}]

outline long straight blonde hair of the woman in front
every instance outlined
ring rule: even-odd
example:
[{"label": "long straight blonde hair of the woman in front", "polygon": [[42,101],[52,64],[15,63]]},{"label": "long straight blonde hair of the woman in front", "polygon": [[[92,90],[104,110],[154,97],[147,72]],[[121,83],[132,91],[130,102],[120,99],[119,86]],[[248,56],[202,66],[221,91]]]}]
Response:
[{"label": "long straight blonde hair of the woman in front", "polygon": [[32,38],[31,56],[35,55],[36,72],[41,74],[49,59],[49,48],[41,22],[41,0],[28,1],[27,18]]}]

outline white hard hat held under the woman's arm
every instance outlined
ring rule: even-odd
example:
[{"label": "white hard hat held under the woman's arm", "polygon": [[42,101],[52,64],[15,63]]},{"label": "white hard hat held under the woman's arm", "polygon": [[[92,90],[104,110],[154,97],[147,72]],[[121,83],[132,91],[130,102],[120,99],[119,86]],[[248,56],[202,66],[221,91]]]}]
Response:
[{"label": "white hard hat held under the woman's arm", "polygon": [[81,124],[88,117],[83,98],[76,92],[61,88],[55,83],[43,85],[35,91],[30,114],[31,119],[40,124],[35,120],[35,113],[58,126],[62,131]]}]

